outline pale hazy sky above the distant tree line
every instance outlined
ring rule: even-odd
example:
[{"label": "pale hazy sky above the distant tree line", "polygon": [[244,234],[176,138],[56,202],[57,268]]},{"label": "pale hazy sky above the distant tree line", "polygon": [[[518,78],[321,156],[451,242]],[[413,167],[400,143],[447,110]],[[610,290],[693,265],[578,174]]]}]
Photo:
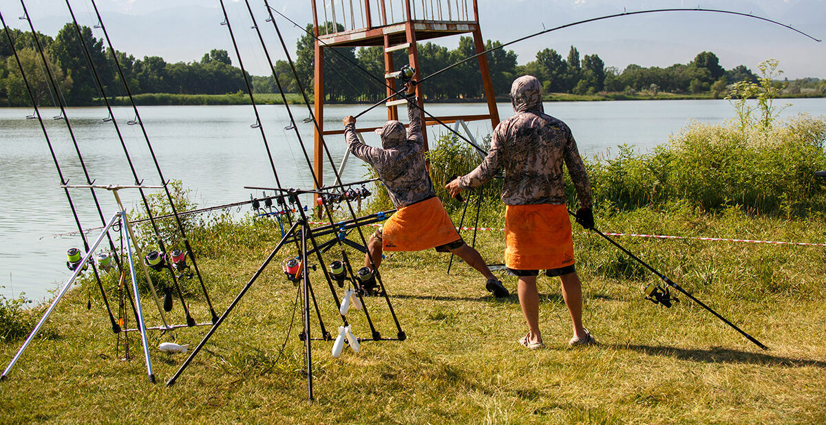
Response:
[{"label": "pale hazy sky above the distant tree line", "polygon": [[[336,0],[341,4],[340,0]],[[373,0],[376,4],[379,0]],[[391,0],[386,0],[390,2]],[[422,0],[411,0],[421,4]],[[424,0],[430,7],[430,0]],[[436,4],[439,0],[433,0]],[[448,0],[442,0],[447,2]],[[451,0],[455,4],[456,0]],[[459,0],[463,2],[464,0]],[[88,0],[70,0],[78,20],[92,26],[92,9]],[[276,59],[280,45],[272,24],[263,22],[266,10],[262,0],[249,0],[259,19],[268,49]],[[321,4],[322,0],[317,0]],[[401,0],[392,0],[399,11]],[[469,4],[471,0],[468,0]],[[244,65],[254,74],[267,74],[263,52],[257,35],[250,30],[250,20],[243,0],[225,0],[230,23],[238,37]],[[349,7],[349,0],[347,1]],[[358,0],[354,0],[358,5]],[[159,55],[168,62],[192,61],[211,49],[230,51],[237,65],[235,52],[225,26],[218,0],[97,0],[104,23],[112,35],[117,50],[141,58]],[[311,0],[272,0],[294,21],[311,21]],[[482,35],[502,42],[522,35],[560,26],[572,21],[664,7],[705,7],[753,13],[794,26],[815,38],[826,37],[826,0],[478,0]],[[31,18],[38,31],[55,35],[69,13],[64,0],[26,0]],[[2,0],[0,12],[12,26],[22,27],[24,21],[19,0]],[[340,8],[339,8],[340,12]],[[356,12],[358,19],[358,12]],[[278,17],[278,25],[287,37],[287,45],[295,49],[300,30]],[[101,36],[100,30],[95,35]],[[457,37],[433,40],[453,48]],[[745,64],[753,71],[765,59],[780,60],[788,78],[826,78],[826,42],[817,43],[781,26],[748,17],[706,12],[668,12],[634,17],[619,17],[582,26],[554,31],[508,46],[519,55],[519,63],[534,59],[538,50],[546,47],[567,56],[571,45],[580,54],[599,54],[606,66],[620,70],[628,64],[644,67],[686,64],[696,54],[709,50],[717,54],[724,68]]]}]

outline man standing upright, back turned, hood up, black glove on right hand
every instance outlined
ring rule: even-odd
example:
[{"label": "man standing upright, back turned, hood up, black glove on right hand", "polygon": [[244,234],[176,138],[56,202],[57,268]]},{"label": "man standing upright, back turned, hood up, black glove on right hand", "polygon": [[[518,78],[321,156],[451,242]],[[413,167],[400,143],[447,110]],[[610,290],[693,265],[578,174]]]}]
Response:
[{"label": "man standing upright, back turned, hood up, black glove on right hand", "polygon": [[577,152],[571,129],[561,120],[548,116],[542,107],[539,80],[525,75],[510,87],[515,116],[502,121],[493,131],[491,150],[482,163],[468,175],[449,182],[451,196],[491,180],[505,169],[502,201],[505,215],[505,264],[519,276],[519,300],[528,322],[528,334],[520,344],[542,348],[539,332],[539,270],[562,280],[563,298],[571,314],[571,346],[595,342],[582,327],[582,285],[574,268],[571,221],[565,205],[563,161],[577,187],[580,209],[577,223],[594,228],[591,212],[591,185],[585,165]]}]

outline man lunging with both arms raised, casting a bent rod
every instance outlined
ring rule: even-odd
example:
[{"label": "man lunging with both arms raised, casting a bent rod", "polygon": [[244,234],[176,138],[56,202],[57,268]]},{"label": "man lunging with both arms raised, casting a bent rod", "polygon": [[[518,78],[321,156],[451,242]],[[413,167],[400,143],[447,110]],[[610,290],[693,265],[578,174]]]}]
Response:
[{"label": "man lunging with both arms raised, casting a bent rod", "polygon": [[487,278],[485,288],[497,298],[510,295],[502,282],[493,276],[477,250],[468,247],[450,221],[442,202],[436,197],[430,174],[425,167],[425,139],[421,134],[421,113],[416,107],[415,86],[406,84],[407,116],[410,128],[401,121],[390,120],[377,129],[382,148],[361,143],[356,136],[356,119],[344,118],[344,138],[356,157],[370,164],[387,188],[396,213],[376,230],[368,241],[364,265],[370,260],[382,263],[382,251],[421,251],[436,248],[439,253],[454,253]]}]

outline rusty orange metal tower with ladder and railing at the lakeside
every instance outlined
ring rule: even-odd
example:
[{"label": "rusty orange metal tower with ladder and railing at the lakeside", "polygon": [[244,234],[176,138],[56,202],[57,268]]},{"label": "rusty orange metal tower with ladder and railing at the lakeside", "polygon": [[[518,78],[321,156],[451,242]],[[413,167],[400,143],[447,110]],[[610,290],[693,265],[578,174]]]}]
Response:
[{"label": "rusty orange metal tower with ladder and railing at the lakeside", "polygon": [[[324,130],[324,54],[325,47],[359,47],[380,45],[384,48],[384,69],[387,78],[387,96],[396,91],[395,78],[390,77],[394,68],[392,53],[407,50],[410,66],[415,68],[415,79],[419,79],[419,54],[416,51],[418,40],[429,40],[449,35],[471,33],[477,53],[485,50],[482,30],[479,25],[477,0],[311,0],[313,12],[313,31],[316,39],[315,57],[315,114],[318,128],[315,131],[314,171],[321,182],[323,176],[321,146],[322,135],[341,135],[344,130]],[[319,12],[323,21],[319,26]],[[332,31],[326,22],[332,23]],[[337,31],[339,24],[344,31]],[[335,32],[333,32],[335,31]],[[321,41],[319,41],[321,40]],[[459,120],[491,120],[495,128],[499,124],[499,112],[496,110],[496,97],[493,93],[491,73],[487,66],[487,56],[478,57],[479,70],[482,73],[482,87],[485,92],[488,113],[472,116],[444,116],[439,120],[445,124]],[[416,86],[419,106],[423,106],[421,85]],[[398,119],[398,105],[406,100],[387,102],[387,119]],[[427,144],[427,125],[435,122],[432,118],[423,118],[425,128],[425,147]],[[359,133],[372,131],[373,128],[358,129]]]}]

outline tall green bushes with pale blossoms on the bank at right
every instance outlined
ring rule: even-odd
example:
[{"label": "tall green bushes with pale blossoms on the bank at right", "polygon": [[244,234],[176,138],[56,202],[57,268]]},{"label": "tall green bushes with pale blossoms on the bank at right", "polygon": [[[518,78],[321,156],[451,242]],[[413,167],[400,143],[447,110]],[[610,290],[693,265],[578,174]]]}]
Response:
[{"label": "tall green bushes with pale blossoms on the bank at right", "polygon": [[[690,201],[705,210],[742,205],[765,214],[826,210],[826,120],[798,116],[742,129],[737,122],[691,123],[652,153],[619,146],[615,158],[587,162],[594,202],[634,210]],[[569,199],[575,193],[567,183]]]}]

